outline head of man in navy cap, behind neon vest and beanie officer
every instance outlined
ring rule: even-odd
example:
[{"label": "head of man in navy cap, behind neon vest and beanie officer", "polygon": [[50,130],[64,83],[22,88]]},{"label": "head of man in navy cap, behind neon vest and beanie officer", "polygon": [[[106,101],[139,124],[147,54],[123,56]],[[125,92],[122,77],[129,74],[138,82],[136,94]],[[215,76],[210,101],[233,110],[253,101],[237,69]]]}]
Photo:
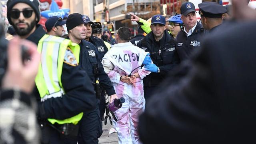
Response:
[{"label": "head of man in navy cap, behind neon vest and beanie officer", "polygon": [[53,16],[48,18],[48,20],[45,22],[47,34],[61,37],[64,32],[64,24],[66,24],[66,21],[62,20],[60,16]]}]

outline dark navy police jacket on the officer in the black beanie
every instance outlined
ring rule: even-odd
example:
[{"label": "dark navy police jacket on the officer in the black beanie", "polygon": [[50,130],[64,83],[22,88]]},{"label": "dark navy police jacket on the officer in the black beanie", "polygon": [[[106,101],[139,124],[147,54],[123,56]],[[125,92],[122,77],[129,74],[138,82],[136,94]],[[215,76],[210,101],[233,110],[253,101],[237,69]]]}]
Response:
[{"label": "dark navy police jacket on the officer in the black beanie", "polygon": [[[95,77],[98,76],[101,86],[107,91],[108,95],[116,94],[108,75],[104,72],[102,63],[98,58],[99,54],[96,47],[86,40],[82,40],[79,45],[81,58],[80,65],[89,75],[90,82],[95,83]],[[98,74],[94,73],[94,65],[98,65]]]}]

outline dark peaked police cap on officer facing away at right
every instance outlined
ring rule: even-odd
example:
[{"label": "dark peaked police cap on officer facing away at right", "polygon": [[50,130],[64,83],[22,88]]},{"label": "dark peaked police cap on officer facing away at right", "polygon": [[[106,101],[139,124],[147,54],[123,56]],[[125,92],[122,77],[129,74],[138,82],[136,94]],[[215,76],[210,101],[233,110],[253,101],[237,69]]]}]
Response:
[{"label": "dark peaked police cap on officer facing away at right", "polygon": [[227,12],[224,6],[216,2],[202,2],[198,7],[200,16],[208,18],[221,18]]}]

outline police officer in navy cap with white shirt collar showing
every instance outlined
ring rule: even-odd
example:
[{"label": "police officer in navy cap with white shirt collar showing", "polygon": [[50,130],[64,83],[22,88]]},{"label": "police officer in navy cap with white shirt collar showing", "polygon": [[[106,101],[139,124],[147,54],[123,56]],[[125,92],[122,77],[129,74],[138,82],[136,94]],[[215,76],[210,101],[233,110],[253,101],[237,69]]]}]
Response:
[{"label": "police officer in navy cap with white shirt collar showing", "polygon": [[180,13],[184,28],[176,37],[176,50],[180,61],[183,61],[190,57],[194,49],[200,48],[204,29],[196,21],[196,9],[192,2],[184,2]]}]

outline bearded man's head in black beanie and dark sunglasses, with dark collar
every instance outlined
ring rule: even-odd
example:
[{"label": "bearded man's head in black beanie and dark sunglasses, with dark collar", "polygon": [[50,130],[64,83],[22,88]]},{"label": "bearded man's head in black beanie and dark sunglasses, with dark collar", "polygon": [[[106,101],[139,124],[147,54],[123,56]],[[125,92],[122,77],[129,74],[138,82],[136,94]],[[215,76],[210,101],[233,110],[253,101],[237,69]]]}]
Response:
[{"label": "bearded man's head in black beanie and dark sunglasses, with dark collar", "polygon": [[43,27],[38,24],[40,11],[38,1],[8,0],[7,18],[9,23],[20,38],[26,38],[38,44],[38,41],[46,34]]}]

